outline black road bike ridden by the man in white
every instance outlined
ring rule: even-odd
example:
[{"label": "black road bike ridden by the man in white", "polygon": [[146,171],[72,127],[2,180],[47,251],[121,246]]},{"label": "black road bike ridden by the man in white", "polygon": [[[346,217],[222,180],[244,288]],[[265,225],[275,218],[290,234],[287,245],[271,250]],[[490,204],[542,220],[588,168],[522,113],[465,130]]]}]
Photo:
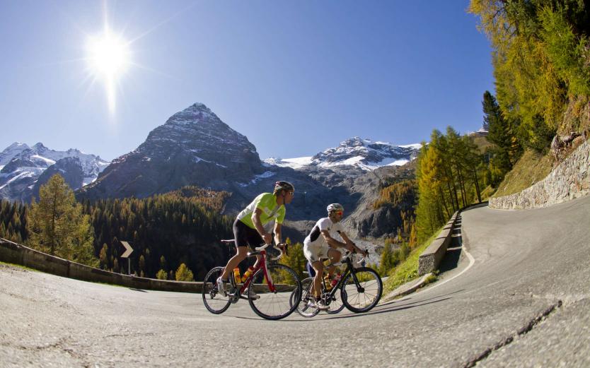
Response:
[{"label": "black road bike ridden by the man in white", "polygon": [[[329,314],[338,313],[346,307],[349,311],[354,313],[361,313],[370,311],[377,305],[383,293],[383,283],[381,277],[372,268],[369,267],[355,267],[352,261],[352,252],[348,252],[342,257],[338,263],[330,263],[329,266],[340,266],[345,264],[345,271],[342,273],[340,281],[328,290],[326,282],[322,282],[322,292],[320,299],[323,300],[328,309],[325,311]],[[361,259],[362,261],[362,259]],[[358,261],[357,263],[361,263]],[[313,278],[306,278],[301,281],[301,299],[297,305],[297,312],[304,317],[316,316],[320,309],[315,305],[310,305],[309,301],[313,296],[311,295],[311,285],[313,285]],[[337,290],[340,290],[340,297],[337,295]],[[293,299],[295,302],[296,299]]]}]

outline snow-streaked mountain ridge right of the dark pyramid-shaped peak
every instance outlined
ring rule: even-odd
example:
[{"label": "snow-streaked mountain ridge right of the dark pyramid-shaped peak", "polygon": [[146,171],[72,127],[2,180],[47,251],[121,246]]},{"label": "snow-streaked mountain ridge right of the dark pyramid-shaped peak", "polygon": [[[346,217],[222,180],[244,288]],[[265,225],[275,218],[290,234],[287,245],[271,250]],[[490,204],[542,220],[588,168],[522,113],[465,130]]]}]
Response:
[{"label": "snow-streaked mountain ridge right of the dark pyramid-shaped peak", "polygon": [[302,158],[267,158],[269,165],[308,170],[309,167],[335,168],[339,166],[358,167],[372,171],[382,166],[402,166],[417,157],[420,143],[395,146],[386,142],[374,142],[359,137],[349,138],[336,148],[328,148],[314,156]]}]

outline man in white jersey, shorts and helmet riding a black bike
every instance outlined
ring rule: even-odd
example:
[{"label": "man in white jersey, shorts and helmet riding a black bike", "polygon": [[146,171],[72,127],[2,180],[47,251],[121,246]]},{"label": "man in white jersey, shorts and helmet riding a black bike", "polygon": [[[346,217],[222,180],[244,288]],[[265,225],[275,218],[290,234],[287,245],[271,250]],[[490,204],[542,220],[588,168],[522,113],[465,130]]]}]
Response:
[{"label": "man in white jersey, shorts and helmet riding a black bike", "polygon": [[[339,248],[345,248],[349,251],[357,251],[364,254],[359,247],[357,247],[352,240],[350,240],[342,228],[340,220],[344,217],[344,207],[340,203],[332,203],[328,205],[328,217],[320,218],[309,235],[303,240],[303,255],[311,263],[316,275],[313,278],[313,286],[311,287],[311,295],[316,298],[311,300],[310,304],[319,309],[326,309],[323,301],[320,300],[320,292],[322,285],[322,277],[324,271],[324,263],[322,259],[330,259],[331,263],[337,263],[342,258],[342,253],[338,251]],[[335,239],[336,235],[340,235],[343,242]],[[336,266],[328,267],[328,276],[331,279]]]}]

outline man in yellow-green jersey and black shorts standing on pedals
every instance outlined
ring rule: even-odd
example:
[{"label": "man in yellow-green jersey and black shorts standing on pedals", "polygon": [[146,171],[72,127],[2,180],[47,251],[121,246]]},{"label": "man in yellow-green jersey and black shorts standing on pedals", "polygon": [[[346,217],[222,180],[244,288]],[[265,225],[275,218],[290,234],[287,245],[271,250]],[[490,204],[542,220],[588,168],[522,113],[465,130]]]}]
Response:
[{"label": "man in yellow-green jersey and black shorts standing on pedals", "polygon": [[[224,268],[224,273],[217,279],[217,288],[225,295],[225,283],[233,268],[236,268],[248,255],[248,247],[254,249],[262,242],[271,244],[272,235],[266,232],[264,225],[274,220],[274,243],[282,246],[281,225],[285,218],[285,204],[291,203],[295,187],[289,182],[275,182],[273,193],[262,193],[252,203],[244,208],[233,222],[233,237],[238,249]],[[260,256],[257,256],[257,266]],[[258,295],[250,294],[248,297],[258,299]]]}]

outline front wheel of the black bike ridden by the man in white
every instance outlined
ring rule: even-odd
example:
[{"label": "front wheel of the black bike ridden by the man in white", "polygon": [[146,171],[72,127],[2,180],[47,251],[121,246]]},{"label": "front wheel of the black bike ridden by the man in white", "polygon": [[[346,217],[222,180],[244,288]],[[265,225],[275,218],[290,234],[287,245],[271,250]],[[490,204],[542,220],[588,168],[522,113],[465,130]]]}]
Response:
[{"label": "front wheel of the black bike ridden by the man in white", "polygon": [[375,307],[382,292],[383,283],[378,273],[369,267],[360,267],[352,269],[346,276],[340,297],[347,309],[361,313]]}]

